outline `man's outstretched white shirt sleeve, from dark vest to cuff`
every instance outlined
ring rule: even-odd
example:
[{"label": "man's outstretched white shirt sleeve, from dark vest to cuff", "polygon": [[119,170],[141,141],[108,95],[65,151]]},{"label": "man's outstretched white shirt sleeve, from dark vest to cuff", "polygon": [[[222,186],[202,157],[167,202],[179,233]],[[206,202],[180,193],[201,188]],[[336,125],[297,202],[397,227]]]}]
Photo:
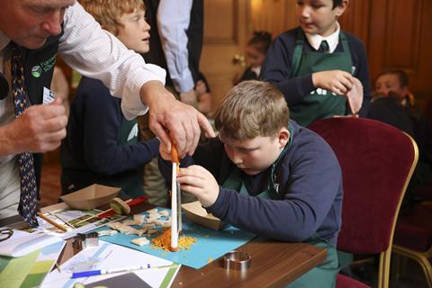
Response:
[{"label": "man's outstretched white shirt sleeve, from dark vest to cuff", "polygon": [[103,31],[77,2],[67,8],[63,30],[58,53],[67,65],[84,76],[101,80],[110,94],[121,97],[121,109],[127,119],[147,112],[139,90],[148,81],[165,84],[163,68],[146,64],[139,54]]}]

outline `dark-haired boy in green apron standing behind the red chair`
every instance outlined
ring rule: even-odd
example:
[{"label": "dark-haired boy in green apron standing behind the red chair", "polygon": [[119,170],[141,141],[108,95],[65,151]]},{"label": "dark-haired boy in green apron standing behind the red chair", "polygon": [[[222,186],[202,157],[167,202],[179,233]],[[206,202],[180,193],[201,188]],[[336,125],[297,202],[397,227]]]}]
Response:
[{"label": "dark-haired boy in green apron standing behind the red chair", "polygon": [[[365,47],[338,23],[348,4],[298,0],[300,27],[279,35],[267,52],[261,78],[282,91],[292,119],[302,126],[335,115],[366,115],[371,96]],[[363,91],[350,93],[361,85]]]}]

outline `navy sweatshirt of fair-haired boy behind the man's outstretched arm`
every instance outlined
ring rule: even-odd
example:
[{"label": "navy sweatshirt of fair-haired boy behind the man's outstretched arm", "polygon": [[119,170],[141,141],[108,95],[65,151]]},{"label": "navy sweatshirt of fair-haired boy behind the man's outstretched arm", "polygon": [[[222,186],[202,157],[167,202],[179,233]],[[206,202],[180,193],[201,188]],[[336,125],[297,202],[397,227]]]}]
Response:
[{"label": "navy sweatshirt of fair-haired boy behind the man's outstretched arm", "polygon": [[62,178],[81,187],[109,183],[136,173],[139,166],[157,157],[157,139],[118,145],[123,117],[121,99],[113,97],[101,81],[83,77],[60,148]]}]

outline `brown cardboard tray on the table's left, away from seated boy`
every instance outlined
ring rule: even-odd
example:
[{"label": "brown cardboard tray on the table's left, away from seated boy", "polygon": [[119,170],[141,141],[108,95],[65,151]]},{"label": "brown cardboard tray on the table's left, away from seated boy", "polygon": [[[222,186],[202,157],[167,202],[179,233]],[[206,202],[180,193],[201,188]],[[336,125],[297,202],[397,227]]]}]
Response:
[{"label": "brown cardboard tray on the table's left, away from seated boy", "polygon": [[120,192],[119,187],[93,184],[60,197],[67,206],[74,209],[90,210],[108,204]]}]

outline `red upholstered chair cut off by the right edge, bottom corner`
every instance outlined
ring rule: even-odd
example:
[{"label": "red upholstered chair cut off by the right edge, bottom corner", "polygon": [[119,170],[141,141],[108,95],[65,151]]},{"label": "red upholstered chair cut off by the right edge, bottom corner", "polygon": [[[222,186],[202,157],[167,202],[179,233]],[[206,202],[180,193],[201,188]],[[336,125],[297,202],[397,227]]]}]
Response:
[{"label": "red upholstered chair cut off by the right edge, bottom corner", "polygon": [[401,212],[394,232],[393,253],[417,261],[432,288],[432,206],[416,203]]}]

